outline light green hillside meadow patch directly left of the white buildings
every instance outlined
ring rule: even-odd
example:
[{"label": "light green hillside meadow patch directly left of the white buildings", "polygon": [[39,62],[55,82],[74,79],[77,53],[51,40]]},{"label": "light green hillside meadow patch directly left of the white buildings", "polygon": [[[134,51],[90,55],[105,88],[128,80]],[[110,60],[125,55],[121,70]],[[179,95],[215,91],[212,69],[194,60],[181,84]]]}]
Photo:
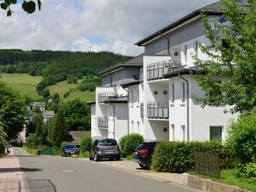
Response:
[{"label": "light green hillside meadow patch directly left of the white buildings", "polygon": [[[78,81],[79,82],[79,81]],[[94,92],[81,92],[76,90],[77,84],[68,84],[66,81],[58,82],[56,85],[47,87],[49,88],[50,94],[53,96],[55,93],[58,93],[61,100],[67,101],[69,99],[81,99],[82,101],[94,100]],[[70,91],[72,89],[72,91]],[[64,93],[70,91],[70,95],[67,98],[64,98]]]}]

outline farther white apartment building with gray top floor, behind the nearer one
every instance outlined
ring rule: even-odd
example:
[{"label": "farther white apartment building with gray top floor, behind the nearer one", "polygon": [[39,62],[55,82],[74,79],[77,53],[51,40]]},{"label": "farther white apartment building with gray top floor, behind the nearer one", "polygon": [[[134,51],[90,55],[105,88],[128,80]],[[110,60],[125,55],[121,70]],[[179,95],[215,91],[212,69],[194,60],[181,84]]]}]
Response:
[{"label": "farther white apartment building with gray top floor, behind the nearer one", "polygon": [[125,82],[139,78],[143,55],[128,62],[101,70],[101,87],[96,87],[95,102],[91,105],[91,136],[119,138],[128,134],[128,91]]}]

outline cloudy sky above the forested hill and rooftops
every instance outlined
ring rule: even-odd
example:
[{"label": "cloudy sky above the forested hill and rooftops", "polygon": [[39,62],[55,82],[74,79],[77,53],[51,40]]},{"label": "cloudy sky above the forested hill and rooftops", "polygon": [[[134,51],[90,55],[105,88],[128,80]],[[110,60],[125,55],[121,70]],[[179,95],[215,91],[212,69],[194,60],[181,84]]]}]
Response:
[{"label": "cloudy sky above the forested hill and rooftops", "polygon": [[0,49],[113,51],[135,56],[134,45],[171,21],[216,0],[41,0],[33,15],[1,9]]}]

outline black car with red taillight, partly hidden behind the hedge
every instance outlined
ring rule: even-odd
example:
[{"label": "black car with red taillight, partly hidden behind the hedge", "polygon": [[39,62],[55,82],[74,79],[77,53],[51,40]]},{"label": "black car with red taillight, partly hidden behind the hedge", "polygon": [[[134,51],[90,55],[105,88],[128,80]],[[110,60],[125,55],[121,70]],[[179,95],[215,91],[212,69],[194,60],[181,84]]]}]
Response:
[{"label": "black car with red taillight, partly hidden behind the hedge", "polygon": [[133,160],[143,169],[150,169],[152,154],[155,151],[156,141],[144,141],[134,152]]}]

